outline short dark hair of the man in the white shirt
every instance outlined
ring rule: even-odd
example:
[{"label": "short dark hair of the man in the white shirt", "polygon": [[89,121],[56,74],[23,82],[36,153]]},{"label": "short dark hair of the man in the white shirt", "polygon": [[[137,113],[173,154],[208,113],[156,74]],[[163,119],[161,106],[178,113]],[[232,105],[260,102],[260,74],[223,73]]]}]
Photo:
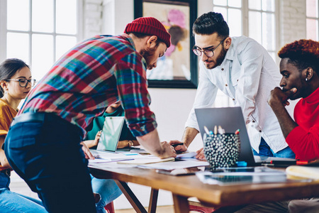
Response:
[{"label": "short dark hair of the man in the white shirt", "polygon": [[199,16],[193,24],[193,34],[218,34],[218,38],[229,36],[228,24],[220,13],[209,12]]}]

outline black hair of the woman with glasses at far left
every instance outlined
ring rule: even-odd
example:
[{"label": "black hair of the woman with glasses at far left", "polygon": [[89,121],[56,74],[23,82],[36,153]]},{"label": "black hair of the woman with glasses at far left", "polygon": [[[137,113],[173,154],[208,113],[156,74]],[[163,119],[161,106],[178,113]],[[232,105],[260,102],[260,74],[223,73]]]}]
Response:
[{"label": "black hair of the woman with glasses at far left", "polygon": [[[0,65],[0,81],[10,80],[16,72],[21,70],[23,67],[30,68],[26,62],[18,58],[9,58],[4,60]],[[0,97],[4,97],[4,88],[0,87]]]}]

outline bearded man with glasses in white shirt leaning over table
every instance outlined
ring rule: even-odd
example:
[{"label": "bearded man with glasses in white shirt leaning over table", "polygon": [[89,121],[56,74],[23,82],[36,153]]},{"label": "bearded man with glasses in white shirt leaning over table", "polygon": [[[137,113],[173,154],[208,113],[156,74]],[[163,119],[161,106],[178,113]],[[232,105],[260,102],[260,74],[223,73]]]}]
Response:
[{"label": "bearded man with glasses in white shirt leaning over table", "polygon": [[[279,122],[267,104],[270,91],[281,76],[276,63],[262,45],[245,36],[229,37],[228,24],[220,13],[209,12],[193,25],[193,51],[201,57],[199,85],[193,109],[177,151],[186,151],[198,134],[195,108],[212,107],[218,89],[242,108],[254,155],[295,158]],[[292,107],[288,111],[292,113]],[[180,141],[170,141],[171,144]],[[203,159],[203,149],[196,158]]]}]

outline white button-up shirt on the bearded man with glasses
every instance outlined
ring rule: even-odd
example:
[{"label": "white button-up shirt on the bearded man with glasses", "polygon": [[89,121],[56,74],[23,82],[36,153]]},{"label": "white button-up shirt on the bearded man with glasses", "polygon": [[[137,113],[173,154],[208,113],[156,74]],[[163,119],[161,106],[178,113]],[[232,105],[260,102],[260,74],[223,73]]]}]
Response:
[{"label": "white button-up shirt on the bearded man with glasses", "polygon": [[[281,75],[262,45],[245,36],[233,37],[220,66],[208,70],[200,61],[199,67],[196,98],[185,126],[199,131],[194,109],[212,107],[220,89],[233,99],[235,106],[242,108],[250,143],[255,151],[259,152],[261,137],[275,153],[288,146],[279,121],[267,103],[270,91],[279,87]],[[292,115],[293,107],[290,106],[286,109]]]}]

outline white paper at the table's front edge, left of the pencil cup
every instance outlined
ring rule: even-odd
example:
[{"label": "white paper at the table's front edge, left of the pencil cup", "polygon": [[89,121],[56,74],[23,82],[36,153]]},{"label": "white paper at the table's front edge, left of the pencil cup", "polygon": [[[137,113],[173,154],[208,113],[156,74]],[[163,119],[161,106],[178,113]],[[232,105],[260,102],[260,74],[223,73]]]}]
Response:
[{"label": "white paper at the table's front edge, left of the pencil cup", "polygon": [[179,160],[179,161],[173,161],[173,162],[139,165],[138,167],[152,168],[157,170],[174,170],[174,169],[192,168],[192,167],[206,166],[206,165],[209,165],[209,163],[203,160],[196,160],[196,161]]}]

